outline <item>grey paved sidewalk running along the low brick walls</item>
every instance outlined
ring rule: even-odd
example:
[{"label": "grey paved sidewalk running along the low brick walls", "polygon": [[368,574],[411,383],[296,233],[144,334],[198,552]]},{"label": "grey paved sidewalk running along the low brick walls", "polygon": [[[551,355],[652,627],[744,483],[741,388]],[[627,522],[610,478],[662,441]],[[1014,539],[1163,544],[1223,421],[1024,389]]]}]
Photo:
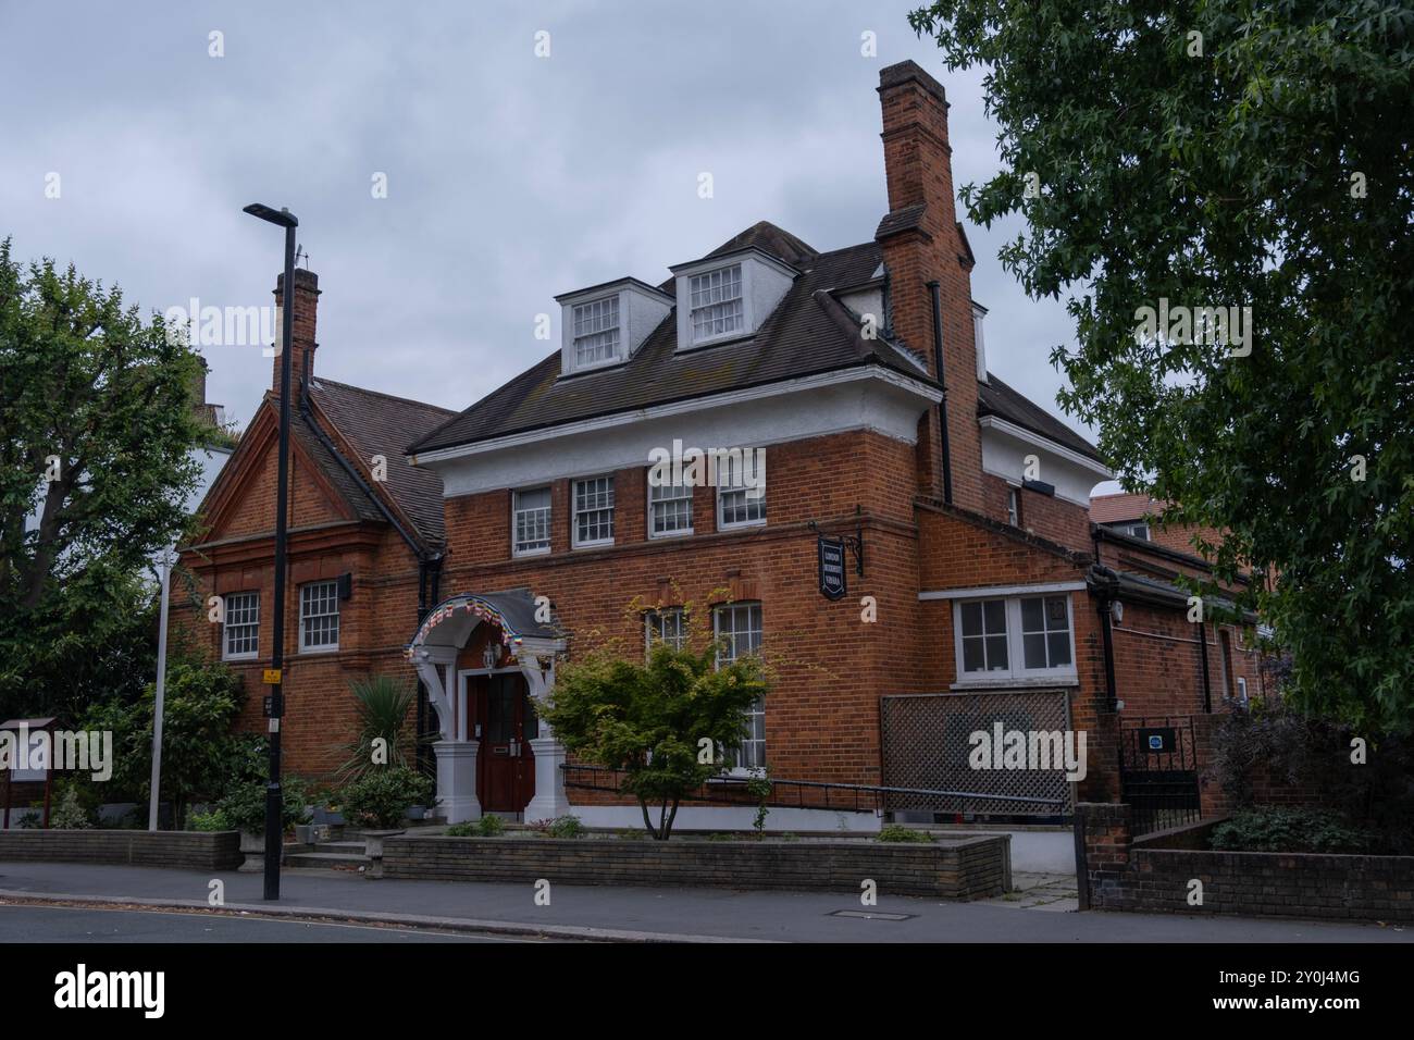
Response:
[{"label": "grey paved sidewalk running along the low brick walls", "polygon": [[[881,893],[861,907],[848,893],[731,891],[551,886],[536,906],[532,884],[368,880],[334,870],[286,870],[279,904],[262,900],[262,877],[85,863],[0,863],[6,899],[66,896],[115,903],[175,901],[206,910],[209,882],[225,884],[226,910],[383,920],[499,934],[580,940],[786,942],[1408,942],[1414,930],[1377,924],[1196,918],[1174,914],[1055,911],[1065,899],[1036,876],[1019,900],[942,903]],[[1051,879],[1049,882],[1045,879]],[[1070,886],[1073,891],[1073,886]],[[1028,893],[1031,893],[1028,896]],[[1051,913],[1048,913],[1051,910]],[[847,911],[848,917],[834,915]],[[889,920],[889,917],[905,920]],[[0,907],[0,941],[24,941]]]}]

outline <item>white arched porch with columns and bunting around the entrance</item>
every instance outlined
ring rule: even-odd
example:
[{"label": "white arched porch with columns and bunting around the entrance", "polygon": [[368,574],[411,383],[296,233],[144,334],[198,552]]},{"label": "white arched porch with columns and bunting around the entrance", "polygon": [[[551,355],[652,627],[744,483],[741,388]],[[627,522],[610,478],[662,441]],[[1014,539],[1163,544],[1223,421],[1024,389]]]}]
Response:
[{"label": "white arched porch with columns and bunting around the entrance", "polygon": [[[547,620],[540,620],[547,618]],[[554,688],[554,664],[566,641],[549,603],[536,604],[529,589],[498,593],[458,593],[438,603],[417,625],[404,657],[417,669],[427,698],[437,712],[441,740],[437,753],[438,809],[447,822],[477,819],[478,741],[468,739],[467,712],[458,705],[461,683],[457,659],[481,625],[492,625],[516,668],[526,679],[530,696],[543,700]],[[570,809],[564,794],[564,749],[542,720],[540,736],[530,741],[534,751],[536,795],[526,807],[526,819],[553,819]]]}]

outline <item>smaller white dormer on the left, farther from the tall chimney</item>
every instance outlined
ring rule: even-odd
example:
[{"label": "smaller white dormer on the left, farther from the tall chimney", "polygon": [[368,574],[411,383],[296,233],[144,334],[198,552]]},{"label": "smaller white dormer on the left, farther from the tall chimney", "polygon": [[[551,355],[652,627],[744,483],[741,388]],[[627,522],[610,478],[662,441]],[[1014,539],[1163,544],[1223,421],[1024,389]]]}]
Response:
[{"label": "smaller white dormer on the left, farther from the tall chimney", "polygon": [[619,365],[667,317],[673,297],[619,279],[554,297],[560,304],[560,375]]}]

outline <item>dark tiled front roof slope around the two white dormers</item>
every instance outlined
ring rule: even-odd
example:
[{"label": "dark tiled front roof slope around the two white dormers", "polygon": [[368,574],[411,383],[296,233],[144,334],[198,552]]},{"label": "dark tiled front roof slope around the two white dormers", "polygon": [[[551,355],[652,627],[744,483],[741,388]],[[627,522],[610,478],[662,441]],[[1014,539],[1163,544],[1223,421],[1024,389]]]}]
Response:
[{"label": "dark tiled front roof slope around the two white dormers", "polygon": [[411,444],[409,451],[426,453],[863,365],[884,365],[932,382],[898,347],[865,340],[858,323],[830,296],[830,290],[860,286],[874,277],[884,259],[877,243],[816,253],[795,235],[758,224],[710,255],[748,246],[802,272],[755,335],[679,354],[677,321],[670,311],[626,362],[561,378],[557,349]]}]

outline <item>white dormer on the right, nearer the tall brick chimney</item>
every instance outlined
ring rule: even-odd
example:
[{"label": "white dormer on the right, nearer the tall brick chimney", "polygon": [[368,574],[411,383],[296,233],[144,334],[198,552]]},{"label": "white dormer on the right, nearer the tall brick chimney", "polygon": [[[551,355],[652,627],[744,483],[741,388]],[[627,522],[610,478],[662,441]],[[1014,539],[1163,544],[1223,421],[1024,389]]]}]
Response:
[{"label": "white dormer on the right, nearer the tall brick chimney", "polygon": [[799,273],[748,246],[669,267],[677,286],[677,349],[755,335]]}]

